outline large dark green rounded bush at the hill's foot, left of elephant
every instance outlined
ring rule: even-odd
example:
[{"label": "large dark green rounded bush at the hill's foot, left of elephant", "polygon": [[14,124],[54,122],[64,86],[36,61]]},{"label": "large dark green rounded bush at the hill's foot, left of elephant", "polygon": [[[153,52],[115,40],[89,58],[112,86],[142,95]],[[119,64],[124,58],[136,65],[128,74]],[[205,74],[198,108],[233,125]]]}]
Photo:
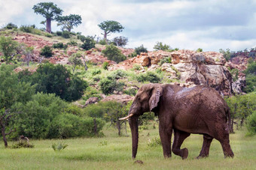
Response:
[{"label": "large dark green rounded bush at the hill's foot, left of elephant", "polygon": [[41,64],[32,76],[20,77],[20,81],[36,85],[36,91],[56,94],[66,101],[78,100],[87,88],[87,82],[78,76],[71,75],[69,70],[61,64]]}]

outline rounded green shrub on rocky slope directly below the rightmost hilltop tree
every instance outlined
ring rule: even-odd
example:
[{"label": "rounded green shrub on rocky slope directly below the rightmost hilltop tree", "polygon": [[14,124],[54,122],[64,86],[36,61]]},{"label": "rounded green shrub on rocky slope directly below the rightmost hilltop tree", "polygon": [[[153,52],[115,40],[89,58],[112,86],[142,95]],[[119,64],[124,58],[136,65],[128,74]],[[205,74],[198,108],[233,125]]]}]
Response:
[{"label": "rounded green shrub on rocky slope directly below the rightmost hilltop tree", "polygon": [[121,50],[113,44],[106,46],[106,48],[102,50],[102,53],[108,58],[108,60],[116,61],[117,63],[126,59],[126,56],[122,54]]}]

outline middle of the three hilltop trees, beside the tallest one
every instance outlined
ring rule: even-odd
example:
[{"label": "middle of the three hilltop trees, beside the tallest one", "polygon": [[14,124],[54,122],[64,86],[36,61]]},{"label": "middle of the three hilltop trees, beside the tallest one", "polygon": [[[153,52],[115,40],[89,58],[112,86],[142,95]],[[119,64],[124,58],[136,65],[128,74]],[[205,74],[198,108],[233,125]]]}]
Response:
[{"label": "middle of the three hilltop trees, beside the tallest one", "polygon": [[62,25],[62,31],[67,30],[71,31],[74,26],[80,25],[82,18],[80,15],[70,14],[69,16],[59,16],[56,21],[58,22],[58,26]]}]

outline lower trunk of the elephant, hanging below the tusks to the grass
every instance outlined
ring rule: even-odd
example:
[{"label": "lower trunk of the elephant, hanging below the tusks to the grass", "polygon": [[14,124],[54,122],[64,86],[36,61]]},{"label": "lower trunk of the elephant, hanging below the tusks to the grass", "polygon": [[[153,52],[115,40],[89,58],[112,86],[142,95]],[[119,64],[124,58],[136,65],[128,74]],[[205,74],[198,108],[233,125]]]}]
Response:
[{"label": "lower trunk of the elephant, hanging below the tusks to the grass", "polygon": [[132,132],[133,140],[133,159],[136,158],[139,142],[139,132],[138,132],[138,116],[133,116],[129,119],[129,124]]}]

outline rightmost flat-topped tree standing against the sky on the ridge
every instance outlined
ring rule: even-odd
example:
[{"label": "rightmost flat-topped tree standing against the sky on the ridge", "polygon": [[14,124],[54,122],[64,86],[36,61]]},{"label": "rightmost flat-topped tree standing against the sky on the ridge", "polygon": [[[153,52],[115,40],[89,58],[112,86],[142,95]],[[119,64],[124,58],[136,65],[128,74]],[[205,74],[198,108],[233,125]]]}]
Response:
[{"label": "rightmost flat-topped tree standing against the sky on the ridge", "polygon": [[104,31],[103,35],[105,40],[107,40],[108,34],[121,32],[124,28],[119,22],[113,20],[103,21],[98,26]]}]

